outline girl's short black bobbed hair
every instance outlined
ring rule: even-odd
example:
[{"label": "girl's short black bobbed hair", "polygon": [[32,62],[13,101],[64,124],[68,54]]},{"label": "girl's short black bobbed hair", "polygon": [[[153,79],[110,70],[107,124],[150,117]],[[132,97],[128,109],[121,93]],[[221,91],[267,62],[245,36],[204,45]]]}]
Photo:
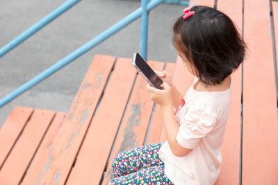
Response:
[{"label": "girl's short black bobbed hair", "polygon": [[193,6],[195,14],[177,19],[173,44],[206,85],[220,84],[244,60],[247,48],[231,19],[207,6]]}]

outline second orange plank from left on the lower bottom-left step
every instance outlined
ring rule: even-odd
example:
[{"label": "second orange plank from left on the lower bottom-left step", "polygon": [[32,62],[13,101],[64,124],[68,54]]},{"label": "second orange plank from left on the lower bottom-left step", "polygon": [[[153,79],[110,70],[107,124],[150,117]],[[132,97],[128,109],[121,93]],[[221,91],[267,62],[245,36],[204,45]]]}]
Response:
[{"label": "second orange plank from left on the lower bottom-left step", "polygon": [[54,115],[54,111],[35,110],[1,168],[1,184],[19,184]]}]

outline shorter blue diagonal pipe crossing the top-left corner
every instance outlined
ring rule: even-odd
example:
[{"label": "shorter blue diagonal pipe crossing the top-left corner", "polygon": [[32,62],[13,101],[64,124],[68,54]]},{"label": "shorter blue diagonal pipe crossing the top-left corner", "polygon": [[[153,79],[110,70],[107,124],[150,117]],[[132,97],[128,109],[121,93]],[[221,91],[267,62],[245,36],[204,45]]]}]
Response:
[{"label": "shorter blue diagonal pipe crossing the top-left corner", "polygon": [[68,0],[0,49],[0,58],[81,0]]}]

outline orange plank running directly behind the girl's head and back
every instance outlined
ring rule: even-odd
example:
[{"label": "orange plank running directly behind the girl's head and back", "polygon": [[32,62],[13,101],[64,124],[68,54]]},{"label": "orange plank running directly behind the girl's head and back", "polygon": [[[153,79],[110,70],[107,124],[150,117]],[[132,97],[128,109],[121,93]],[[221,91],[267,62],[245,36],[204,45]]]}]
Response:
[{"label": "orange plank running directly behind the girl's head and back", "polygon": [[[218,10],[228,15],[242,33],[243,1],[218,0]],[[241,65],[231,75],[232,92],[229,118],[222,145],[222,164],[220,175],[215,184],[238,184],[240,161],[240,106],[241,106]]]}]

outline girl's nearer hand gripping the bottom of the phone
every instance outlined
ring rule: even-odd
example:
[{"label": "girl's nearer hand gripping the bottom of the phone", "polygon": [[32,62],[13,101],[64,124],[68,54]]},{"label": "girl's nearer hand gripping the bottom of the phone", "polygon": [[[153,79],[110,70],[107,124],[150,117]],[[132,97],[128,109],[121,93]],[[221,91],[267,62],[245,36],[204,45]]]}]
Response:
[{"label": "girl's nearer hand gripping the bottom of the phone", "polygon": [[161,105],[161,107],[165,105],[172,106],[172,89],[170,85],[168,85],[167,82],[163,82],[161,87],[163,87],[163,90],[156,89],[147,84],[147,91],[149,92],[149,97],[155,103]]}]

